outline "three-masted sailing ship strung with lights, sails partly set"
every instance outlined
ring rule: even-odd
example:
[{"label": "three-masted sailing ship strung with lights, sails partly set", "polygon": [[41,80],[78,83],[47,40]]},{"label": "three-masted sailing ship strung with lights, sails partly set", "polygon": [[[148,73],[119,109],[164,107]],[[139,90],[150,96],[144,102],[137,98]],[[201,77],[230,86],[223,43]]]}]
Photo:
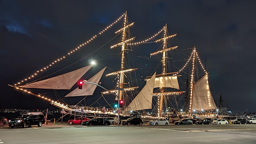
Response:
[{"label": "three-masted sailing ship strung with lights, sails partly set", "polygon": [[[187,111],[184,109],[183,112],[186,112],[187,115],[195,114],[196,112],[202,112],[202,111],[214,111],[217,109],[216,104],[214,102],[214,99],[212,98],[210,87],[208,84],[208,73],[206,72],[206,69],[203,68],[202,63],[198,57],[198,54],[196,52],[196,48],[194,47],[192,49],[192,53],[190,57],[188,58],[187,62],[185,63],[184,67],[178,68],[178,71],[175,72],[169,72],[169,57],[168,53],[172,50],[177,50],[178,46],[170,46],[169,39],[175,37],[177,34],[174,35],[168,35],[167,31],[167,24],[160,30],[160,32],[156,33],[153,37],[149,39],[145,39],[144,41],[135,42],[132,43],[133,40],[135,40],[135,37],[131,36],[130,33],[130,27],[134,25],[133,23],[128,22],[127,12],[123,14],[120,18],[117,19],[114,23],[109,25],[107,28],[105,28],[103,31],[98,33],[98,35],[101,35],[105,31],[108,30],[108,28],[112,27],[114,24],[116,24],[118,21],[120,21],[121,18],[123,19],[122,28],[118,31],[116,31],[116,35],[121,34],[121,38],[117,42],[117,44],[112,45],[110,48],[116,48],[121,47],[120,57],[120,69],[114,71],[112,73],[106,74],[105,77],[110,76],[116,76],[114,80],[117,81],[116,85],[111,90],[103,91],[101,92],[102,95],[105,94],[113,94],[115,95],[116,100],[123,100],[124,107],[121,108],[121,115],[131,115],[131,114],[143,114],[144,117],[168,117],[170,113],[174,113],[174,111],[177,111],[179,109],[179,104],[176,100],[177,96],[184,97],[184,94],[189,94],[186,98],[187,103]],[[138,44],[144,44],[144,42],[148,42],[150,40],[153,40],[154,37],[156,37],[159,33],[163,31],[162,37],[158,40],[154,40],[153,42],[162,42],[162,45],[160,49],[154,53],[151,53],[150,56],[154,56],[157,54],[162,54],[160,58],[160,65],[161,67],[161,73],[157,74],[156,71],[152,72],[152,76],[148,76],[145,78],[146,84],[144,87],[140,90],[138,93],[138,90],[140,87],[138,86],[138,78],[136,78],[136,63],[131,62],[132,55],[130,53],[133,52],[133,47]],[[64,98],[66,97],[74,97],[74,96],[84,96],[83,99],[85,99],[88,95],[93,95],[94,91],[99,84],[100,79],[102,78],[102,75],[107,67],[104,67],[102,70],[100,70],[96,75],[91,77],[89,80],[87,80],[90,83],[94,83],[95,85],[90,84],[83,84],[82,89],[78,89],[76,87],[77,82],[81,80],[82,76],[85,75],[86,72],[90,70],[92,65],[85,66],[79,69],[76,69],[75,71],[64,73],[59,76],[55,76],[52,78],[48,78],[45,80],[33,80],[31,82],[27,82],[28,80],[31,80],[35,78],[40,72],[45,71],[49,67],[51,67],[53,64],[58,63],[62,59],[65,59],[67,56],[69,56],[72,53],[75,53],[75,51],[79,50],[83,46],[89,44],[91,41],[93,41],[98,35],[93,36],[90,40],[84,42],[74,50],[70,51],[66,56],[63,56],[57,60],[55,60],[53,63],[51,63],[49,66],[46,66],[42,68],[41,70],[37,71],[35,74],[31,75],[28,78],[25,78],[24,80],[21,80],[17,82],[14,86],[14,89],[25,92],[27,94],[39,97],[41,99],[44,99],[48,102],[50,102],[51,105],[54,105],[55,107],[63,109],[63,111],[66,111],[67,114],[73,114],[74,112],[79,113],[90,113],[91,116],[102,116],[103,114],[108,114],[108,117],[116,116],[116,110],[118,108],[113,107],[113,103],[109,104],[109,107],[105,109],[105,107],[87,107],[87,106],[79,106],[79,103],[76,105],[68,105],[68,104],[61,104],[59,101],[54,101],[49,98],[46,98],[46,96],[41,96],[40,94],[34,94],[31,91],[28,91],[27,89],[53,89],[53,90],[71,90],[72,87],[75,87],[70,93],[68,93]],[[190,85],[187,87],[186,91],[181,91],[178,79],[181,78],[180,73],[184,72],[188,68],[188,63],[192,61],[192,68],[191,68],[191,79],[190,79]],[[199,66],[203,69],[204,75],[199,75],[197,66],[197,61],[199,62]],[[186,73],[188,74],[188,73]],[[201,78],[199,78],[201,77]],[[26,84],[24,84],[26,82]],[[84,81],[86,82],[86,81]],[[135,83],[135,84],[134,84]],[[98,85],[99,86],[99,85]],[[83,100],[82,99],[82,100]],[[170,103],[169,99],[175,99],[175,107]],[[82,101],[81,100],[81,101]],[[156,102],[154,102],[155,100]],[[80,102],[81,102],[80,101]],[[113,102],[112,101],[112,102]],[[169,105],[171,104],[171,105]],[[185,103],[183,104],[183,108],[185,108]],[[174,110],[175,109],[175,110]],[[148,112],[147,110],[151,111]],[[120,112],[120,111],[119,111]]]}]

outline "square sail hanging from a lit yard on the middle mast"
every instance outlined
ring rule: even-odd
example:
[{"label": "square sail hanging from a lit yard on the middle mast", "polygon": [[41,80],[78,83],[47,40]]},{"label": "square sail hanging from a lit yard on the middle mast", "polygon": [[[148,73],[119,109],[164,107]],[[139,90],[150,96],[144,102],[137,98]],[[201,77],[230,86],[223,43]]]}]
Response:
[{"label": "square sail hanging from a lit yard on the middle mast", "polygon": [[156,87],[171,87],[178,90],[180,89],[177,76],[156,77],[154,82],[154,88]]}]

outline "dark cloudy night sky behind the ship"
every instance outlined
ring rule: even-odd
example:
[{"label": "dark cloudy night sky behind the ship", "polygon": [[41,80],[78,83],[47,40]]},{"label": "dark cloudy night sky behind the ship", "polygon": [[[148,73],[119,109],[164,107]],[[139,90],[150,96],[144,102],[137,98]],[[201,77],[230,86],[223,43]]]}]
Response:
[{"label": "dark cloudy night sky behind the ship", "polygon": [[[256,112],[255,6],[254,0],[1,0],[0,108],[48,108],[49,103],[20,94],[8,84],[14,85],[66,55],[127,11],[129,23],[135,22],[130,29],[131,34],[136,36],[135,41],[154,35],[167,24],[170,35],[178,34],[171,39],[173,46],[179,45],[179,49],[196,46],[204,65],[206,61],[216,105],[222,95],[224,106],[234,114],[246,109],[246,113]],[[88,65],[90,59],[98,59],[115,69],[113,58],[117,57],[120,47],[110,49],[117,42],[111,39],[116,36],[114,32],[121,28],[122,21],[64,61],[72,64],[108,42],[104,48],[78,61],[78,66],[71,69]],[[146,44],[134,46],[134,49],[137,56],[149,57],[157,47]],[[151,75],[154,67],[150,65],[151,61],[137,59],[142,77]],[[58,66],[64,67],[61,64]],[[98,72],[103,68],[100,65],[97,67],[92,71]],[[58,96],[51,98],[57,99]]]}]

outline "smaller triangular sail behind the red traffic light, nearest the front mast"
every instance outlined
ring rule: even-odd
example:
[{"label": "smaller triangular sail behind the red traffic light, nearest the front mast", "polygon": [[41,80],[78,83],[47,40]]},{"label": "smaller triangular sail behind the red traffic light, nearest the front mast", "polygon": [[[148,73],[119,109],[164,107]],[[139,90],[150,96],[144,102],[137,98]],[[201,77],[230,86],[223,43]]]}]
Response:
[{"label": "smaller triangular sail behind the red traffic light, nearest the front mast", "polygon": [[[91,77],[88,82],[93,82],[95,84],[99,83],[100,78],[103,75],[103,72],[105,71],[106,67],[104,67],[101,71],[96,73],[93,77]],[[70,96],[84,96],[84,95],[93,95],[97,85],[93,84],[83,84],[82,89],[78,89],[78,87],[71,91],[69,94],[67,94],[65,97],[70,97]]]}]

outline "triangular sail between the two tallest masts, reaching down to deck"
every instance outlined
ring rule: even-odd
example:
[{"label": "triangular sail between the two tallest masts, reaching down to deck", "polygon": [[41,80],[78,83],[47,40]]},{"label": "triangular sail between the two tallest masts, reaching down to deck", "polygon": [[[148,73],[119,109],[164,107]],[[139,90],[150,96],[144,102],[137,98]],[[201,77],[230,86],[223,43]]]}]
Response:
[{"label": "triangular sail between the two tallest masts, reaching down to deck", "polygon": [[154,80],[156,77],[156,72],[147,81],[147,84],[143,87],[140,93],[133,99],[133,101],[128,105],[125,111],[138,111],[142,109],[152,108],[152,94],[154,89]]}]

